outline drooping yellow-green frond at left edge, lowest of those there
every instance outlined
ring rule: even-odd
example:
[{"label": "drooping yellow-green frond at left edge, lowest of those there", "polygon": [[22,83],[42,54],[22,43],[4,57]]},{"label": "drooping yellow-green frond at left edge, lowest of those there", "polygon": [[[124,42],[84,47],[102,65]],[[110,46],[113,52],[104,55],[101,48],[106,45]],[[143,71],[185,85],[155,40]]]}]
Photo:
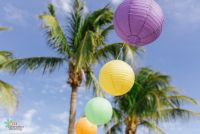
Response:
[{"label": "drooping yellow-green frond at left edge, lowest of those there", "polygon": [[10,114],[13,114],[18,105],[17,90],[2,80],[0,80],[0,105],[2,108],[6,108]]}]

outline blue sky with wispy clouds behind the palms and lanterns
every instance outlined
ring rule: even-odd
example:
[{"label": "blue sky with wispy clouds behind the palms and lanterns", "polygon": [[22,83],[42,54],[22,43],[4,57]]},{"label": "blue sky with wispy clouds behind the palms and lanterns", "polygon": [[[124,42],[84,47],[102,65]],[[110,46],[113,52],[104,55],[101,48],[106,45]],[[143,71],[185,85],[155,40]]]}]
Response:
[{"label": "blue sky with wispy clouds behind the palms and lanterns", "polygon": [[[12,30],[0,33],[0,50],[9,50],[16,57],[56,55],[46,46],[41,22],[37,15],[47,11],[47,3],[57,6],[58,15],[64,20],[70,11],[69,0],[0,0],[0,25]],[[111,2],[113,7],[120,0],[87,0],[87,10],[92,11]],[[200,1],[158,0],[165,13],[165,25],[160,38],[145,47],[145,54],[137,62],[169,74],[172,83],[184,94],[200,100]],[[64,24],[64,21],[62,21]],[[120,41],[113,32],[110,42]],[[96,71],[98,74],[98,69]],[[20,91],[20,105],[11,119],[25,128],[16,134],[64,134],[67,129],[69,93],[66,85],[67,71],[62,68],[51,75],[41,72],[19,73],[15,76],[0,73],[0,78],[10,82]],[[92,97],[84,86],[78,93],[77,119],[83,115],[84,105]],[[84,101],[83,101],[84,100]],[[199,107],[191,107],[200,111]],[[0,119],[8,118],[0,112]],[[167,134],[199,134],[200,122],[177,121],[162,124]],[[146,130],[139,129],[139,134]],[[0,129],[0,134],[11,134]],[[13,134],[13,133],[12,133]],[[99,134],[103,134],[101,128]]]}]

